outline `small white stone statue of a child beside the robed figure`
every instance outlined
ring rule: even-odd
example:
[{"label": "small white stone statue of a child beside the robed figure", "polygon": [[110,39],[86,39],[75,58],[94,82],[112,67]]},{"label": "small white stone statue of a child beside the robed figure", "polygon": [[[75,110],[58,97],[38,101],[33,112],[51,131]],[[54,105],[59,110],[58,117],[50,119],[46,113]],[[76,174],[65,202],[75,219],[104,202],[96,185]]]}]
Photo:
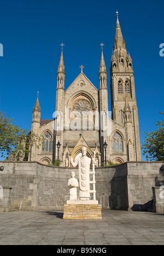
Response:
[{"label": "small white stone statue of a child beside the robed figure", "polygon": [[69,187],[69,200],[77,200],[77,188],[79,187],[79,182],[75,178],[75,173],[71,172],[71,179],[68,181]]}]

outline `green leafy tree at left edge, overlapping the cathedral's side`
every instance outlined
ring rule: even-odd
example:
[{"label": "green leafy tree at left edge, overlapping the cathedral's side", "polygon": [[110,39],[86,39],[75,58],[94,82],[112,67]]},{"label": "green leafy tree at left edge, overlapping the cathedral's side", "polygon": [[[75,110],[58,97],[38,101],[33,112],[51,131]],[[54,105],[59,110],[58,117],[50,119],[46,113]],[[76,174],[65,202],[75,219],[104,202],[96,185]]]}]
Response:
[{"label": "green leafy tree at left edge, overlapping the cathedral's side", "polygon": [[0,111],[1,157],[6,158],[11,155],[14,160],[26,160],[30,148],[39,147],[42,138],[33,132],[19,128],[14,123],[14,118],[9,119],[5,113]]}]

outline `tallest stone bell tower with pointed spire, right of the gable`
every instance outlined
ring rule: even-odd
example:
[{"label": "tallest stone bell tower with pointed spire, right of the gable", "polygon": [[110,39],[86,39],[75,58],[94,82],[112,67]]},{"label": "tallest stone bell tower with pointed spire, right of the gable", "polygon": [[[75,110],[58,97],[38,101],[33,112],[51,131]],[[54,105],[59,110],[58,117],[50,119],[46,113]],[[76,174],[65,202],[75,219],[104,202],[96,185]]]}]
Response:
[{"label": "tallest stone bell tower with pointed spire, right of the gable", "polygon": [[133,65],[122,37],[118,11],[114,49],[110,66],[112,119],[126,131],[128,161],[141,161],[140,136]]}]

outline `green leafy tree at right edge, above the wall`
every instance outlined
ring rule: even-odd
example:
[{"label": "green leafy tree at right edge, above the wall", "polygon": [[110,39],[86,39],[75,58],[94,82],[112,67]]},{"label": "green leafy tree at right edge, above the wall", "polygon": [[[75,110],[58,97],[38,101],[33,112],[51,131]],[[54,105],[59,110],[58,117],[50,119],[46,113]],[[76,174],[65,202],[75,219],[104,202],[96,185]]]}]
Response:
[{"label": "green leafy tree at right edge, above the wall", "polygon": [[[164,115],[164,113],[160,112]],[[164,119],[157,124],[159,129],[154,132],[145,133],[145,143],[142,145],[143,155],[148,154],[151,160],[164,160]]]}]

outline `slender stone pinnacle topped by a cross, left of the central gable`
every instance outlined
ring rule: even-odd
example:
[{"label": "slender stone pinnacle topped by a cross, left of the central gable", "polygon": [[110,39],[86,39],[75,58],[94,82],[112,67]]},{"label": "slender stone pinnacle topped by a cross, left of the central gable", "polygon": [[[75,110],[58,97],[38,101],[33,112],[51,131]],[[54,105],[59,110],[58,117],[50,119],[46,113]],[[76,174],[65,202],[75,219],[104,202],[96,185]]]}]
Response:
[{"label": "slender stone pinnacle topped by a cross, left of the central gable", "polygon": [[65,89],[65,65],[64,65],[64,59],[63,59],[63,43],[62,45],[62,52],[60,57],[60,62],[58,65],[57,70],[57,89]]}]

